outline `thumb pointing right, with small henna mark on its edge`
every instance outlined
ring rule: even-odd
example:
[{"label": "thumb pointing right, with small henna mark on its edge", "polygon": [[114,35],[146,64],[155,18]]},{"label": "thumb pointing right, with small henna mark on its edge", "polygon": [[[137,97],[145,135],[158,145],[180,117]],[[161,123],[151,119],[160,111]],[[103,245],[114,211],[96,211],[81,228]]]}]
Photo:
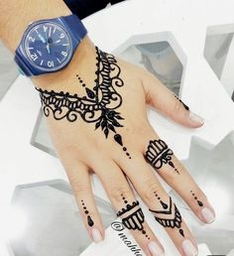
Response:
[{"label": "thumb pointing right, with small henna mark on its edge", "polygon": [[203,119],[192,113],[189,107],[153,74],[146,72],[143,75],[143,84],[147,94],[147,103],[169,116],[176,123],[190,128],[203,125]]}]

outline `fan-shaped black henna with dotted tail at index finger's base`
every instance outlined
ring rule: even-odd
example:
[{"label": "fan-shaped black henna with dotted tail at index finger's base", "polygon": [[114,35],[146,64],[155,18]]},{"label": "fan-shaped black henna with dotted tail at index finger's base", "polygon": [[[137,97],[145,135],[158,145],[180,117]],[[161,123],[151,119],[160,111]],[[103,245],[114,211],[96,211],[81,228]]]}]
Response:
[{"label": "fan-shaped black henna with dotted tail at index finger's base", "polygon": [[163,140],[154,140],[150,141],[148,145],[146,160],[155,169],[161,169],[164,164],[168,164],[175,170],[176,174],[179,175],[179,172],[172,161],[173,155],[173,150],[168,147],[166,142]]}]

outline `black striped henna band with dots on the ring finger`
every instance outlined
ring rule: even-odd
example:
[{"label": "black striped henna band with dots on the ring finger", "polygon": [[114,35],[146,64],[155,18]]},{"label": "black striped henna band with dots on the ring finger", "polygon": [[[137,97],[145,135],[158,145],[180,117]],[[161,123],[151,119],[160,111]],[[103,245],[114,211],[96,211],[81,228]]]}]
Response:
[{"label": "black striped henna band with dots on the ring finger", "polygon": [[133,230],[138,229],[142,232],[142,234],[146,236],[147,239],[150,240],[149,235],[147,234],[146,230],[143,227],[145,215],[142,211],[142,208],[139,205],[139,201],[136,200],[133,201],[132,203],[129,203],[125,196],[123,194],[121,195],[126,206],[117,212],[117,216],[122,216],[122,223],[126,228]]}]

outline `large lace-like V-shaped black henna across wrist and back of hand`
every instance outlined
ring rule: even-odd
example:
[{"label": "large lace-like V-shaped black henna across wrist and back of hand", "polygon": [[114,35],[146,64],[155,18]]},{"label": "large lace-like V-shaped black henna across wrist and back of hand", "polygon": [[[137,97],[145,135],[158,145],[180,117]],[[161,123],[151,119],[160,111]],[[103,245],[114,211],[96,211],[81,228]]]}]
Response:
[{"label": "large lace-like V-shaped black henna across wrist and back of hand", "polygon": [[[78,117],[87,123],[95,123],[95,129],[100,128],[107,138],[110,131],[131,159],[127,148],[123,146],[122,137],[116,132],[116,128],[123,127],[120,123],[124,118],[116,111],[122,105],[122,96],[116,91],[116,87],[124,85],[120,78],[121,68],[114,56],[96,49],[96,78],[92,89],[88,88],[82,78],[76,74],[79,83],[85,88],[85,95],[69,94],[68,92],[56,92],[54,90],[42,90],[40,92],[45,116],[52,114],[56,120],[66,119],[74,122]],[[116,139],[117,138],[117,139]],[[121,141],[121,143],[120,143]]]}]

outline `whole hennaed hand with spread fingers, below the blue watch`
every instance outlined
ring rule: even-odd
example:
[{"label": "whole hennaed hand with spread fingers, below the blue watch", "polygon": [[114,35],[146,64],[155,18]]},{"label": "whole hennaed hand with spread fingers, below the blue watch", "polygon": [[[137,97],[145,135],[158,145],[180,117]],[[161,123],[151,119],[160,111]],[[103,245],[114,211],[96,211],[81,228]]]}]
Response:
[{"label": "whole hennaed hand with spread fingers, below the blue watch", "polygon": [[66,69],[35,82],[58,158],[90,237],[95,242],[104,238],[90,185],[93,172],[117,216],[147,255],[163,255],[164,249],[129,182],[166,228],[180,254],[196,255],[195,239],[153,169],[201,221],[212,222],[214,210],[150,125],[146,103],[186,127],[200,127],[202,120],[149,72],[101,52],[88,39],[80,48]]}]

